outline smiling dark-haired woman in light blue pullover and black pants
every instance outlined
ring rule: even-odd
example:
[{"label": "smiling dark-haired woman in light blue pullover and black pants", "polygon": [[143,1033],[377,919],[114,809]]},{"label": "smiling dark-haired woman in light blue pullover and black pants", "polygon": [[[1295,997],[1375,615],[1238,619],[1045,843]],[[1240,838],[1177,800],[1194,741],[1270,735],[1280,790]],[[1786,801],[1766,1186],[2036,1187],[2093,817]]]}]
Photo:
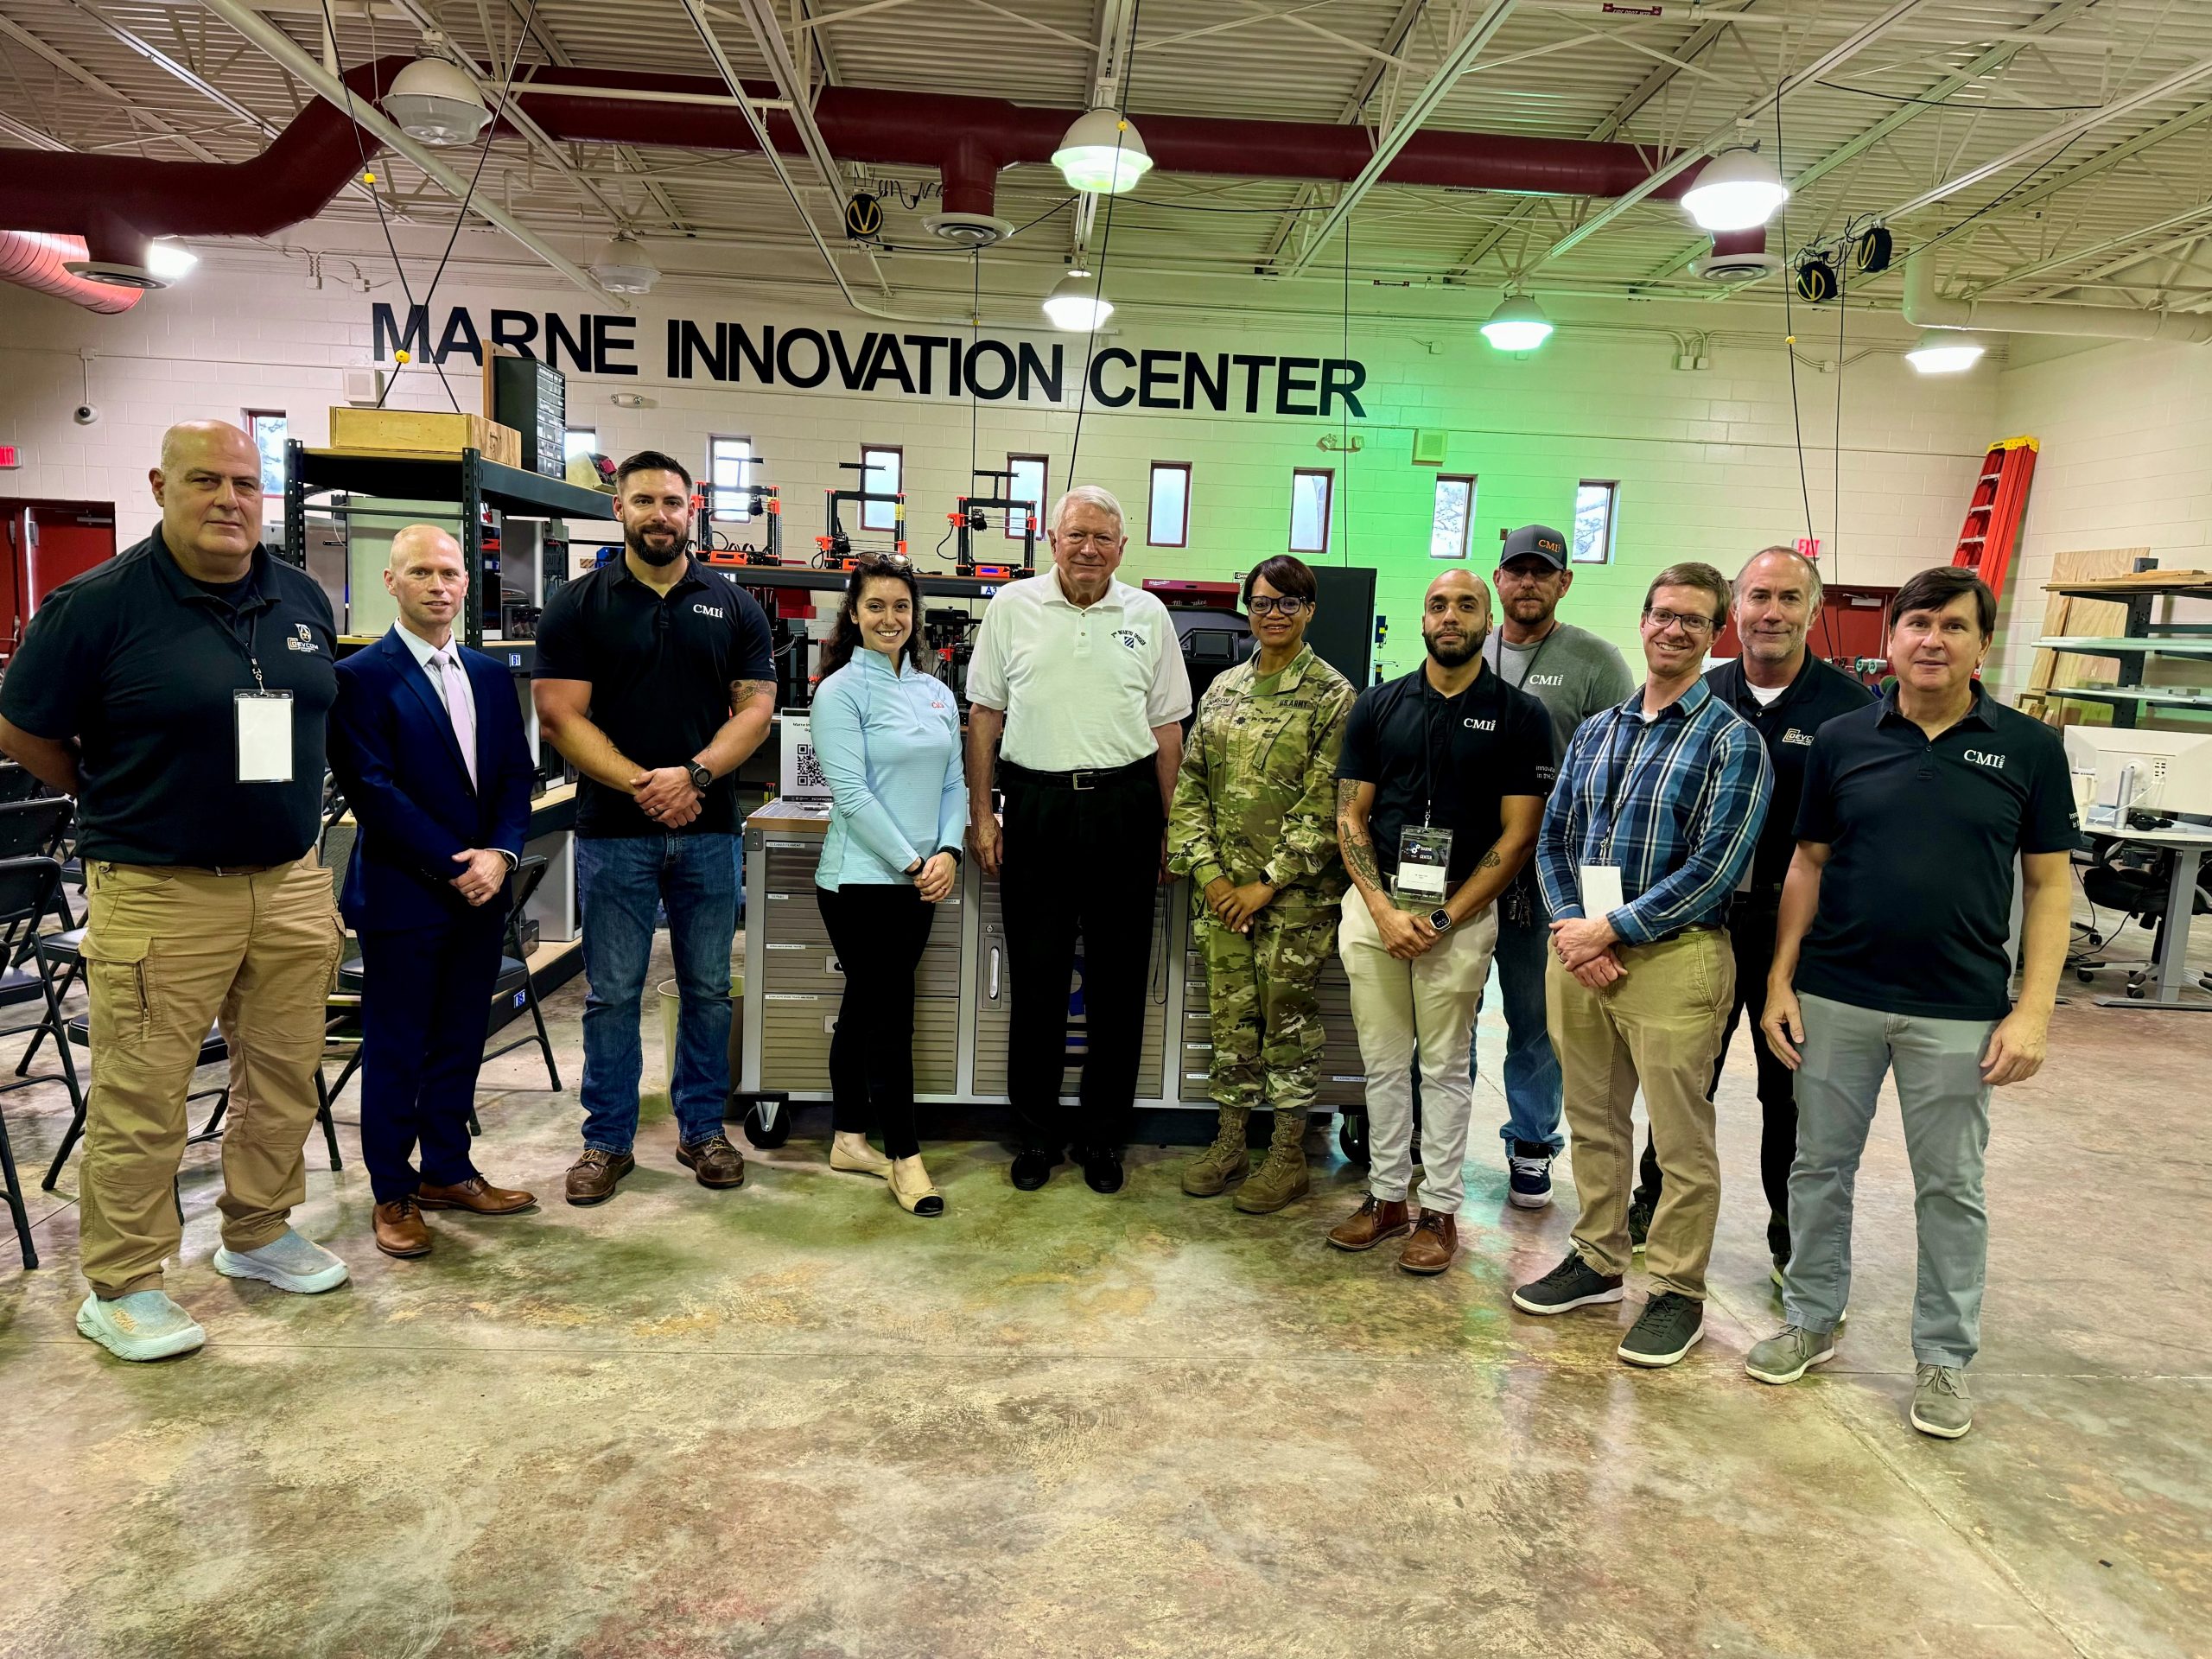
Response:
[{"label": "smiling dark-haired woman in light blue pullover and black pants", "polygon": [[[880,1175],[909,1214],[945,1214],[914,1135],[914,969],[960,880],[967,781],[960,708],[927,668],[920,622],[911,564],[854,568],[814,692],[814,759],[830,779],[814,898],[845,969],[830,1168]],[[872,1126],[889,1157],[867,1144]]]}]

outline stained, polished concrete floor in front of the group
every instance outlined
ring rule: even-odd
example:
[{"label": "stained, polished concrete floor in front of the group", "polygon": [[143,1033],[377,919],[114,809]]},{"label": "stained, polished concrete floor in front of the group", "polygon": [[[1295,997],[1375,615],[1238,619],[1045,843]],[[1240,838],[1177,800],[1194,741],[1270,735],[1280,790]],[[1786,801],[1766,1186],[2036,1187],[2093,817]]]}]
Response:
[{"label": "stained, polished concrete floor in front of the group", "polygon": [[[338,1175],[310,1144],[296,1219],[354,1267],[327,1296],[212,1272],[195,1148],[197,1356],[82,1340],[73,1170],[33,1192],[46,1267],[0,1245],[0,1655],[2212,1652],[2201,1015],[2066,1006],[2000,1095],[1980,1425],[1940,1444],[1905,1425],[1893,1115],[1838,1360],[1743,1376],[1778,1307],[1741,1046],[1708,1338],[1635,1374],[1641,1296],[1506,1307],[1573,1188],[1511,1210],[1486,1130],[1431,1281],[1323,1248],[1358,1197],[1334,1159],[1252,1219],[1181,1197],[1181,1150],[1102,1199],[936,1146],[949,1214],[918,1221],[812,1117],[706,1192],[659,1102],[622,1194],[571,1210],[580,1009],[568,1093],[487,1068],[480,1161],[542,1212],[434,1217],[436,1254],[387,1261],[352,1128]],[[42,1170],[60,1091],[0,1110]]]}]

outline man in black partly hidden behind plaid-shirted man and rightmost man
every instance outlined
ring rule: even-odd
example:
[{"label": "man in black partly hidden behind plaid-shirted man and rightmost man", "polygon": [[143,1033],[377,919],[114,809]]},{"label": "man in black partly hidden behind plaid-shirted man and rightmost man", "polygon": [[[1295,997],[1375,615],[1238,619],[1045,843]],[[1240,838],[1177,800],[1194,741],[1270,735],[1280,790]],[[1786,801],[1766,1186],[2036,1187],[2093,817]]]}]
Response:
[{"label": "man in black partly hidden behind plaid-shirted man and rightmost man", "polygon": [[[1774,960],[1774,920],[1783,902],[1783,876],[1796,852],[1796,807],[1805,790],[1805,757],[1812,739],[1838,714],[1865,708],[1874,692],[1807,648],[1820,615],[1820,571],[1794,546],[1770,546],[1752,555],[1734,584],[1736,637],[1743,655],[1705,675],[1705,686],[1752,723],[1774,765],[1774,803],[1752,867],[1728,909],[1728,949],[1736,958],[1736,1004],[1721,1031],[1721,1055],[1712,1062],[1719,1091],[1728,1066],[1728,1040],[1736,1022],[1752,1015],[1752,1055],[1759,1062],[1759,1179],[1767,1190],[1767,1254],[1774,1283],[1783,1283],[1790,1261],[1790,1164],[1796,1157],[1796,1088],[1790,1066],[1759,1035],[1767,1011],[1767,967]],[[1663,1177],[1650,1133],[1644,1135],[1644,1170],[1628,1206],[1628,1243],[1644,1248],[1659,1210]]]}]

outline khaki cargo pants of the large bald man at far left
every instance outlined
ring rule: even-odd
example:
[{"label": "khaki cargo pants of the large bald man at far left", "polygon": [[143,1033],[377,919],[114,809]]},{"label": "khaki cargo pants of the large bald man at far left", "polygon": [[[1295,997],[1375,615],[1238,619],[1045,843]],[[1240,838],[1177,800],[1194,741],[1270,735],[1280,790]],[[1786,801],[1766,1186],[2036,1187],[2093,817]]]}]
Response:
[{"label": "khaki cargo pants of the large bald man at far left", "polygon": [[181,1230],[170,1183],[208,1029],[230,1046],[223,1243],[259,1250],[307,1197],[323,1004],[345,929],[314,854],[250,876],[93,863],[84,978],[93,1088],[80,1170],[84,1276],[100,1296],[161,1287]]}]

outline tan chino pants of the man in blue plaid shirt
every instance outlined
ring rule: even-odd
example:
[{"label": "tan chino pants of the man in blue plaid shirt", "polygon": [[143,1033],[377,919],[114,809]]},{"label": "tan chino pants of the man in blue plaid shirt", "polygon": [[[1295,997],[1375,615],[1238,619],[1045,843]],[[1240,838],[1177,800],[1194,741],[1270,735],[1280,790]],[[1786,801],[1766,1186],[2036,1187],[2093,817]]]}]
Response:
[{"label": "tan chino pants of the man in blue plaid shirt", "polygon": [[1544,967],[1582,1201],[1575,1250],[1601,1274],[1628,1272],[1628,1192],[1637,1177],[1630,1110],[1641,1086],[1666,1177],[1644,1265],[1659,1290],[1703,1301],[1721,1217],[1721,1152],[1708,1091],[1734,1006],[1736,960],[1719,927],[1663,945],[1626,945],[1619,958],[1626,975],[1604,991],[1586,989],[1557,956]]}]

